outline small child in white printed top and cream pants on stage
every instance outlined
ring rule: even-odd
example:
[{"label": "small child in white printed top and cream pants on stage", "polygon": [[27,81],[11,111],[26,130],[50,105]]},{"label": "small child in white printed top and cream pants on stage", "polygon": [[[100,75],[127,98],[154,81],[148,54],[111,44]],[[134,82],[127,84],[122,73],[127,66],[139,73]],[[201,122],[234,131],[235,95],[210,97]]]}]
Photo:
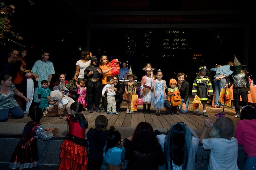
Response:
[{"label": "small child in white printed top and cream pants on stage", "polygon": [[[107,113],[108,114],[118,114],[116,111],[116,99],[115,99],[115,89],[114,89],[114,78],[112,76],[107,76],[107,82],[103,89],[102,89],[102,97],[105,97],[105,92],[107,91]],[[112,111],[112,112],[111,112]]]}]

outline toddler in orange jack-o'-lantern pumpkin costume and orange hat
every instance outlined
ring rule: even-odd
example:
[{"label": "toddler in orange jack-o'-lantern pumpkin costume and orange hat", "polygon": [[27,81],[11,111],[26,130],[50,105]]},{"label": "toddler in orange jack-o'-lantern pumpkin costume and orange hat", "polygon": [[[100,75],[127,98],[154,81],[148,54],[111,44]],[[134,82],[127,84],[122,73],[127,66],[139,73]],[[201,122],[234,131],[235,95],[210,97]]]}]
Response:
[{"label": "toddler in orange jack-o'-lantern pumpkin costume and orange hat", "polygon": [[176,87],[177,81],[175,79],[170,80],[171,88],[168,90],[168,100],[172,103],[170,108],[171,115],[179,114],[177,111],[177,106],[181,104],[181,97],[178,87]]}]

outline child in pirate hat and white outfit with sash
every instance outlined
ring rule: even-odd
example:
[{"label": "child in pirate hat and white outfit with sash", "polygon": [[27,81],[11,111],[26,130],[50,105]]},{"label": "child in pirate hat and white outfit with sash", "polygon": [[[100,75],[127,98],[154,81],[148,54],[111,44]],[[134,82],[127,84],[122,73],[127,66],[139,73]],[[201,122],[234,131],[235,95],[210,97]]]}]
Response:
[{"label": "child in pirate hat and white outfit with sash", "polygon": [[[151,67],[151,64],[147,64],[142,70],[145,71],[146,75],[142,77],[141,79],[141,85],[143,86],[143,91],[142,91],[142,99],[143,99],[143,113],[148,113],[150,114],[150,106],[151,106],[151,101],[152,101],[152,92],[153,89],[153,81],[154,81],[154,75],[153,71],[154,68]],[[146,106],[147,110],[146,110]]]}]

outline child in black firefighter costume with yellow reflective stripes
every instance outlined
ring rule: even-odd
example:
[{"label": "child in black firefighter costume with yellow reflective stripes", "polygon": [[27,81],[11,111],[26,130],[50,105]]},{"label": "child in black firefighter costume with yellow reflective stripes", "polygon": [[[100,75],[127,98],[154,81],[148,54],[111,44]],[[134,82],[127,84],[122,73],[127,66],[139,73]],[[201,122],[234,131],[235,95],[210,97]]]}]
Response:
[{"label": "child in black firefighter costume with yellow reflective stripes", "polygon": [[[199,67],[198,76],[196,76],[193,87],[192,87],[192,95],[197,95],[200,98],[200,101],[203,105],[203,116],[207,117],[206,113],[206,105],[208,101],[208,97],[211,97],[213,95],[213,89],[211,85],[211,80],[208,76],[206,76],[206,73],[208,73],[208,69],[206,66],[200,66]],[[198,109],[195,110],[195,113],[197,116],[200,116],[200,112]]]}]

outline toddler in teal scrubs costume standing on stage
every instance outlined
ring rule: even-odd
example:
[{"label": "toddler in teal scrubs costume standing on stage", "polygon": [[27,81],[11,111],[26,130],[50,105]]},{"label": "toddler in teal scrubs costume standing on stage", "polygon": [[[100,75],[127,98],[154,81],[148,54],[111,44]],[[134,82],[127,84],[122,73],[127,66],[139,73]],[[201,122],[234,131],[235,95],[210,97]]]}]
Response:
[{"label": "toddler in teal scrubs costume standing on stage", "polygon": [[48,88],[48,81],[42,80],[41,81],[41,88],[38,89],[38,100],[40,102],[39,107],[43,109],[43,111],[46,110],[46,107],[48,106],[48,99],[47,97],[50,96],[51,90]]}]

